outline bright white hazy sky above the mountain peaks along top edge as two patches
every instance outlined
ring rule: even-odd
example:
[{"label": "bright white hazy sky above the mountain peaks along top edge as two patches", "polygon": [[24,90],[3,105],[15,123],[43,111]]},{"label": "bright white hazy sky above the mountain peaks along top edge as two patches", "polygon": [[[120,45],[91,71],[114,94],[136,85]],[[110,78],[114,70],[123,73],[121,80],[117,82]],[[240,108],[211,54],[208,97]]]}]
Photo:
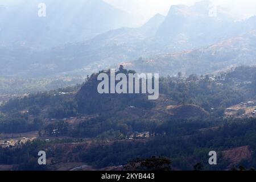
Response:
[{"label": "bright white hazy sky above the mountain peaks along top edge as two patches", "polygon": [[[144,18],[154,16],[156,13],[166,15],[171,5],[193,5],[200,0],[104,0],[119,9],[126,10]],[[212,0],[214,5],[228,9],[237,19],[256,15],[256,0]]]}]

